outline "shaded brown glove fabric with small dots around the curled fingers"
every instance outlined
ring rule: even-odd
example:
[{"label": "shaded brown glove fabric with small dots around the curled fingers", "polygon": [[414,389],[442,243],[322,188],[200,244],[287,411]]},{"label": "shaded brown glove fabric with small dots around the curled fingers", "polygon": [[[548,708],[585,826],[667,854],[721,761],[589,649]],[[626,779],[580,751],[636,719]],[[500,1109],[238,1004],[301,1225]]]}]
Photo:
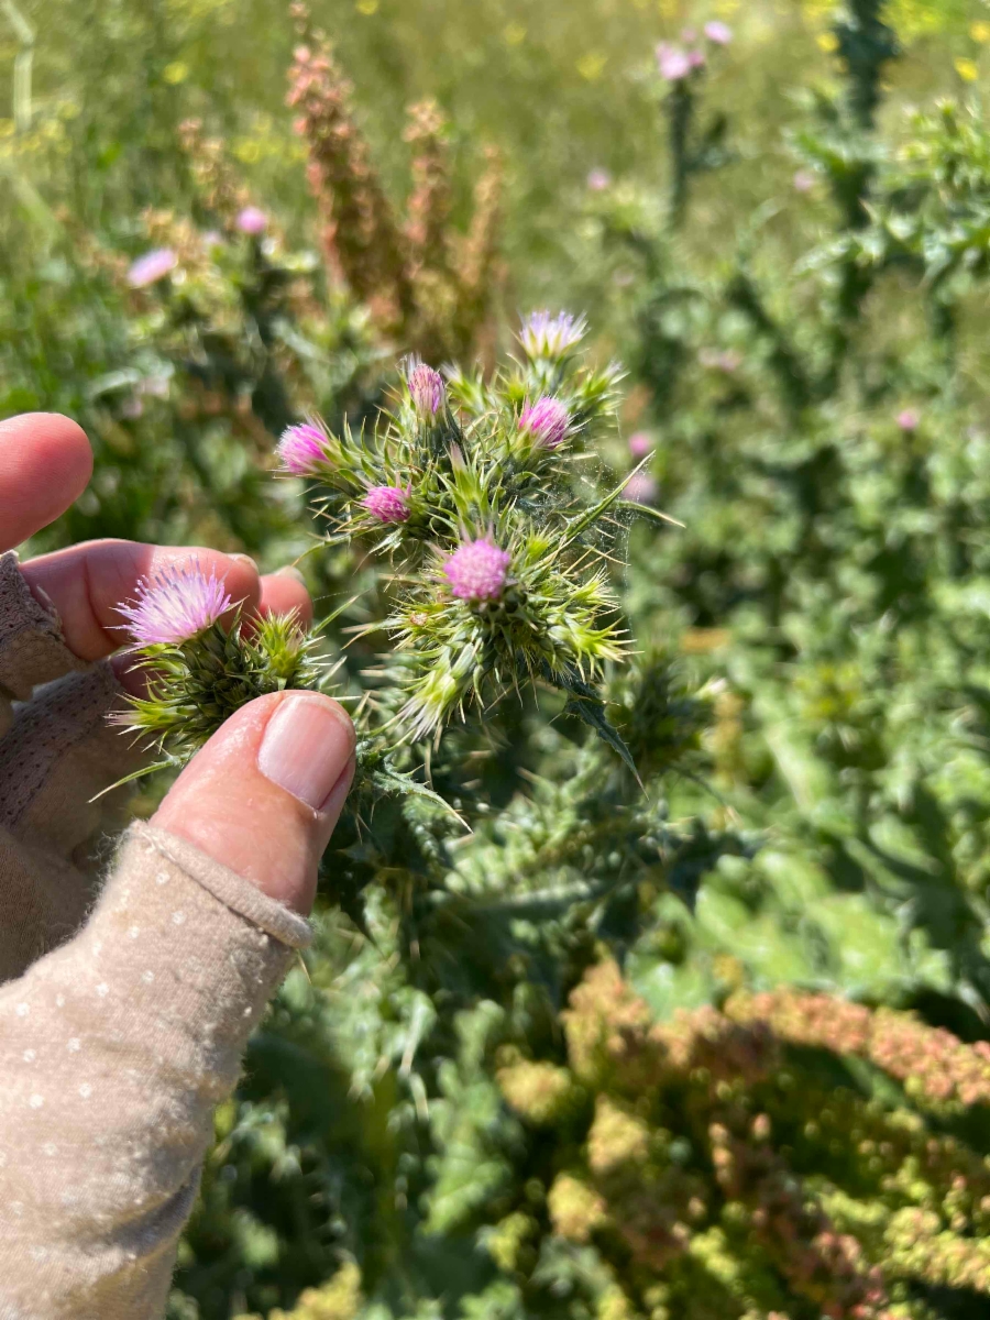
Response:
[{"label": "shaded brown glove fabric with small dots around the curled fingers", "polygon": [[133,747],[107,723],[121,702],[107,664],[87,665],[36,601],[17,556],[0,556],[0,982],[69,939],[95,896],[100,833]]}]

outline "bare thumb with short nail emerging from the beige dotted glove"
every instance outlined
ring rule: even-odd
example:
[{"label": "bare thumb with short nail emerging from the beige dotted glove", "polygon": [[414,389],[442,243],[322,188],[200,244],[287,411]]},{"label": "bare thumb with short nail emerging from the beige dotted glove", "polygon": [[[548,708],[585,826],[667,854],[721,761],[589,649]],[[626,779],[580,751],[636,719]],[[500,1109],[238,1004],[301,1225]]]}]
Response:
[{"label": "bare thumb with short nail emerging from the beige dotted glove", "polygon": [[338,702],[259,697],[197,752],[152,824],[305,916],[354,766],[354,726]]}]

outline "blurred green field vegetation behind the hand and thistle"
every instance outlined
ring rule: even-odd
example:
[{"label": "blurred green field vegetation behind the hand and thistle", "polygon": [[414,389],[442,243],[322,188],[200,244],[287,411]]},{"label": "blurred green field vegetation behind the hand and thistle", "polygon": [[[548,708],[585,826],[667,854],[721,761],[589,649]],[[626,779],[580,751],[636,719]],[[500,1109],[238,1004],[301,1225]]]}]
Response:
[{"label": "blurred green field vegetation behind the hand and thistle", "polygon": [[[301,556],[279,429],[372,418],[451,305],[426,244],[397,272],[366,243],[412,271],[396,315],[327,239],[356,157],[312,107],[293,128],[297,21],[0,0],[0,412],[69,412],[98,457],[41,546]],[[664,79],[657,42],[713,21],[731,42]],[[343,828],[173,1320],[977,1320],[990,8],[314,0],[310,28],[395,215],[449,183],[463,256],[500,172],[458,351],[585,312],[628,370],[602,463],[652,453],[638,498],[684,525],[635,527],[623,578],[640,655],[609,692],[645,795],[535,705],[434,758],[470,840],[422,804]],[[411,139],[425,99],[447,127]],[[174,269],[135,286],[149,248]],[[374,597],[354,550],[302,562],[321,610]]]}]

